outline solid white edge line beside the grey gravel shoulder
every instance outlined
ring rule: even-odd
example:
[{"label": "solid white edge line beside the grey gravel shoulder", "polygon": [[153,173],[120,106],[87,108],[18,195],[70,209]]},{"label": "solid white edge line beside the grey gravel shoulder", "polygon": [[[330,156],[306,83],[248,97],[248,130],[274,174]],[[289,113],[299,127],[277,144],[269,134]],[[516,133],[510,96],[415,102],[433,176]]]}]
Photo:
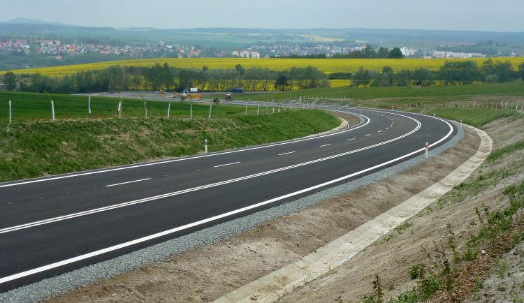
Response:
[{"label": "solid white edge line beside the grey gravel shoulder", "polygon": [[[413,118],[410,118],[410,119],[413,119]],[[444,121],[442,119],[440,119],[441,121]],[[416,120],[415,120],[416,121]],[[420,122],[417,121],[419,123],[419,125],[417,126],[416,130],[418,130],[420,128]],[[440,142],[446,140],[446,138],[448,138],[451,133],[453,133],[453,127],[451,126],[451,124],[449,124],[447,121],[444,121],[446,124],[449,125],[449,127],[451,128],[449,133],[447,133],[446,136],[444,136],[444,138],[438,140],[437,142],[433,143],[432,145],[430,146],[434,146],[434,145],[437,145],[439,144]],[[413,131],[414,132],[414,131]],[[330,185],[330,184],[333,184],[333,183],[336,183],[336,182],[341,182],[345,179],[349,179],[351,177],[355,177],[356,175],[361,175],[363,172],[368,172],[370,170],[374,170],[376,168],[380,168],[381,166],[384,166],[384,165],[388,165],[390,163],[394,163],[398,160],[401,160],[402,158],[406,158],[406,157],[409,157],[409,156],[412,156],[416,153],[419,153],[420,151],[423,151],[425,150],[425,147],[421,148],[421,149],[416,149],[415,151],[412,151],[411,153],[409,154],[405,154],[404,156],[400,156],[398,158],[395,158],[393,160],[390,160],[390,161],[387,161],[387,162],[384,162],[384,163],[381,163],[381,164],[378,164],[378,165],[374,165],[372,168],[366,168],[365,170],[361,170],[359,172],[354,172],[353,174],[351,175],[347,175],[347,176],[344,176],[344,177],[340,177],[340,178],[337,178],[337,179],[334,179],[334,180],[331,180],[331,181],[328,181],[328,182],[325,182],[323,184],[318,184],[318,185],[315,185],[315,186],[312,186],[312,187],[309,187],[307,189],[302,189],[300,191],[295,191],[293,193],[289,193],[287,195],[281,195],[280,197],[277,197],[277,198],[272,198],[270,200],[265,200],[263,202],[259,202],[259,203],[256,203],[254,205],[249,205],[247,207],[242,207],[240,209],[235,209],[231,212],[226,212],[224,214],[219,214],[217,216],[212,216],[208,219],[203,219],[201,221],[196,221],[194,223],[189,223],[189,224],[186,224],[184,226],[180,226],[180,227],[177,227],[177,228],[173,228],[173,229],[170,229],[170,230],[165,230],[163,232],[158,232],[154,235],[149,235],[147,237],[141,237],[139,239],[135,239],[135,240],[132,240],[132,241],[129,241],[129,242],[124,242],[122,244],[117,244],[115,246],[110,246],[108,248],[105,248],[105,249],[100,249],[98,251],[93,251],[92,253],[85,253],[84,255],[82,256],[77,256],[77,257],[74,257],[74,258],[69,258],[69,259],[66,259],[66,260],[62,260],[62,261],[59,261],[57,263],[52,263],[52,264],[49,264],[49,265],[45,265],[45,266],[42,266],[42,267],[37,267],[35,269],[30,269],[30,270],[27,270],[25,272],[20,272],[18,274],[13,274],[13,275],[10,275],[10,276],[6,276],[6,277],[3,277],[0,279],[0,284],[1,283],[6,283],[8,281],[13,281],[15,279],[20,279],[24,276],[30,276],[31,274],[37,274],[38,272],[45,272],[46,270],[49,270],[49,269],[53,269],[53,268],[56,268],[56,267],[60,267],[60,266],[63,266],[63,265],[67,265],[67,264],[71,264],[71,263],[75,263],[77,261],[80,261],[80,260],[85,260],[87,258],[91,258],[91,257],[94,257],[94,256],[99,256],[103,253],[108,253],[110,251],[116,251],[117,249],[122,249],[124,247],[127,247],[127,246],[131,246],[131,245],[134,245],[134,244],[138,244],[138,243],[142,243],[142,242],[146,242],[146,241],[149,241],[151,239],[156,239],[158,237],[163,237],[165,235],[170,235],[174,232],[179,232],[180,230],[185,230],[187,228],[192,228],[194,226],[199,226],[199,225],[202,225],[202,224],[205,224],[205,223],[209,223],[211,221],[216,221],[217,219],[222,219],[222,218],[225,218],[227,216],[231,216],[233,214],[238,214],[240,212],[245,212],[249,209],[254,209],[256,207],[260,207],[260,206],[263,206],[263,205],[267,205],[267,204],[270,204],[272,202],[276,202],[278,200],[282,200],[282,199],[285,199],[285,198],[289,198],[289,197],[292,197],[293,195],[299,195],[301,193],[305,193],[307,191],[312,191],[314,189],[319,189],[323,186],[327,186],[327,185]]]}]

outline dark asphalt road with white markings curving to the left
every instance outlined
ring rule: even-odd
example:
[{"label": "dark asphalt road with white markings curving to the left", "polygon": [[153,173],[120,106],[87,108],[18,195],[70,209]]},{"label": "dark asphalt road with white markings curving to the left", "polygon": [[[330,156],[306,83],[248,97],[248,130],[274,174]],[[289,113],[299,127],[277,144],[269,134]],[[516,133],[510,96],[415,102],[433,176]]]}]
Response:
[{"label": "dark asphalt road with white markings curving to the left", "polygon": [[349,182],[456,133],[433,117],[340,110],[365,123],[275,145],[0,184],[0,292]]}]

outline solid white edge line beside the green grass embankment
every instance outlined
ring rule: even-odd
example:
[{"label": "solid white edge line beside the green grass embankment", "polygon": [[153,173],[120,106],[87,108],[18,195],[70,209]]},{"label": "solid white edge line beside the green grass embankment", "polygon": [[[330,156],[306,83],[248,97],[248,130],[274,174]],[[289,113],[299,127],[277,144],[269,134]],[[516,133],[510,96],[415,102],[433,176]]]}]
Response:
[{"label": "solid white edge line beside the green grass embankment", "polygon": [[[347,112],[347,113],[349,113],[349,114],[353,113],[354,114],[354,112]],[[241,152],[241,151],[250,151],[250,150],[254,150],[254,149],[263,149],[263,148],[267,148],[267,147],[275,147],[275,146],[279,146],[279,145],[288,145],[288,144],[296,143],[296,142],[303,142],[303,141],[308,141],[308,140],[314,140],[314,139],[318,139],[318,138],[328,137],[330,135],[338,135],[340,133],[346,133],[347,131],[354,131],[355,129],[364,127],[364,126],[366,126],[367,124],[370,123],[371,119],[369,117],[365,117],[364,115],[361,115],[361,116],[364,117],[365,119],[367,119],[367,121],[364,124],[362,124],[361,126],[357,126],[355,128],[349,128],[349,129],[346,129],[344,131],[337,131],[335,133],[328,133],[326,135],[319,135],[318,137],[311,137],[311,138],[304,138],[304,139],[293,140],[293,141],[279,142],[279,143],[275,143],[275,144],[263,145],[263,146],[258,146],[258,147],[249,147],[249,148],[245,148],[245,149],[235,149],[235,150],[231,150],[231,151],[222,151],[222,152],[213,153],[213,154],[203,154],[203,155],[200,155],[200,156],[191,156],[191,157],[187,157],[187,158],[176,158],[176,159],[168,160],[168,161],[159,161],[159,162],[143,163],[143,164],[139,164],[139,165],[122,166],[122,167],[119,167],[119,168],[110,168],[108,170],[93,170],[93,171],[90,171],[90,172],[80,172],[78,174],[74,174],[73,173],[71,175],[61,175],[61,176],[50,177],[50,178],[45,178],[45,179],[31,179],[31,180],[27,180],[27,181],[23,181],[23,182],[14,182],[14,183],[8,183],[8,184],[0,184],[0,188],[2,188],[2,187],[9,187],[9,186],[24,185],[24,184],[31,184],[31,183],[36,183],[36,182],[53,181],[53,180],[57,180],[57,179],[81,177],[81,176],[85,176],[85,175],[101,174],[103,172],[114,172],[116,170],[129,170],[131,168],[141,168],[141,167],[150,166],[150,165],[159,165],[159,164],[164,164],[164,163],[172,163],[172,162],[178,162],[178,161],[193,160],[193,159],[196,159],[196,158],[203,158],[203,157],[210,157],[210,156],[219,156],[219,155],[224,155],[224,154],[233,154],[233,153],[238,153],[238,152]]]}]

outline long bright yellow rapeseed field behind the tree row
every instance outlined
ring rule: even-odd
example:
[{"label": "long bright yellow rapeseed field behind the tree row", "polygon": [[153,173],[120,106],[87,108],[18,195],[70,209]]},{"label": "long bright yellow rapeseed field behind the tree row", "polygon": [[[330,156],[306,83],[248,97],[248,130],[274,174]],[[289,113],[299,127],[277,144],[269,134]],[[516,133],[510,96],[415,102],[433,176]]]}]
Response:
[{"label": "long bright yellow rapeseed field behind the tree row", "polygon": [[[282,71],[286,68],[316,66],[324,73],[352,73],[357,71],[360,66],[368,70],[381,71],[384,66],[391,66],[393,71],[402,69],[415,69],[425,67],[430,71],[437,71],[446,61],[451,60],[473,60],[478,66],[481,66],[487,58],[476,59],[251,59],[251,58],[162,58],[162,59],[133,59],[124,61],[108,61],[92,64],[80,64],[71,66],[57,66],[50,68],[27,68],[15,70],[13,73],[33,74],[41,73],[51,77],[70,75],[80,71],[102,70],[108,66],[152,66],[154,64],[169,64],[177,68],[235,68],[235,65],[241,64],[244,68],[262,67],[270,68],[275,71]],[[524,63],[524,57],[503,57],[493,58],[493,61],[510,61],[511,66],[517,69],[518,65]],[[0,72],[0,74],[6,71]]]}]

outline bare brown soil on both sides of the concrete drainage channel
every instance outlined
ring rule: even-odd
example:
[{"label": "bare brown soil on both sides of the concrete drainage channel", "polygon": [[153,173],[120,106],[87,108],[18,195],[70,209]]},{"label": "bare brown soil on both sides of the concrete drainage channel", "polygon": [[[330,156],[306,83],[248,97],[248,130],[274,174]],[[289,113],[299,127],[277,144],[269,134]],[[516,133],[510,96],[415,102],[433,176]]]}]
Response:
[{"label": "bare brown soil on both sides of the concrete drainage channel", "polygon": [[[351,124],[351,123],[350,123]],[[523,121],[508,119],[488,125],[494,149],[523,140]],[[480,139],[465,128],[465,138],[455,147],[394,178],[326,200],[298,214],[269,221],[256,230],[224,242],[172,256],[94,285],[55,298],[60,302],[209,302],[231,290],[316,251],[387,209],[439,181],[474,154]],[[515,158],[516,157],[516,158]],[[520,157],[520,158],[519,158]],[[486,170],[503,169],[512,161],[524,162],[524,152],[481,167],[470,179]],[[518,165],[517,165],[518,166]],[[496,208],[507,203],[504,186],[523,179],[523,168],[489,189],[460,202],[431,205],[405,232],[393,230],[344,265],[282,297],[282,302],[361,302],[372,292],[379,274],[386,297],[413,286],[409,268],[425,263],[422,248],[430,249],[445,239],[446,223],[453,224],[459,242],[465,241],[467,225],[482,204]],[[435,202],[437,203],[437,202]],[[459,245],[461,245],[459,243]],[[495,298],[497,297],[490,297]],[[52,301],[54,301],[52,300]]]}]

